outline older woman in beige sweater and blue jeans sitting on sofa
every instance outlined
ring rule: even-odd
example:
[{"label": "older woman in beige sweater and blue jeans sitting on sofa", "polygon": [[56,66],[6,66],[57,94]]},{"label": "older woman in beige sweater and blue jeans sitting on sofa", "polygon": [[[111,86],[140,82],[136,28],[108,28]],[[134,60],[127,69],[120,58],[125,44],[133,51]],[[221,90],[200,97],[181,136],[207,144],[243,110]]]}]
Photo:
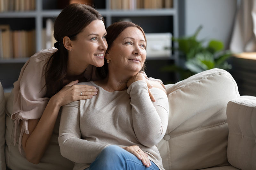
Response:
[{"label": "older woman in beige sweater and blue jeans sitting on sofa", "polygon": [[139,73],[145,33],[131,22],[112,24],[107,33],[108,69],[100,72],[106,77],[82,83],[96,86],[98,95],[62,107],[61,154],[75,162],[74,169],[164,169],[156,144],[167,128],[168,100],[152,88],[152,102]]}]

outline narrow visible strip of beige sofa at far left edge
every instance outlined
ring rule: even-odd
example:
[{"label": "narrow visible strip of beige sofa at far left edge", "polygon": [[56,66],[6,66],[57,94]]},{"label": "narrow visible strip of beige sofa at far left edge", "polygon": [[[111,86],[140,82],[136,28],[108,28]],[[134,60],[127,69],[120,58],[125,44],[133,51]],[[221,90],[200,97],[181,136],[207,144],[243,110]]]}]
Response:
[{"label": "narrow visible strip of beige sofa at far left edge", "polygon": [[5,102],[4,90],[0,82],[0,169],[6,169],[4,148],[5,148]]}]

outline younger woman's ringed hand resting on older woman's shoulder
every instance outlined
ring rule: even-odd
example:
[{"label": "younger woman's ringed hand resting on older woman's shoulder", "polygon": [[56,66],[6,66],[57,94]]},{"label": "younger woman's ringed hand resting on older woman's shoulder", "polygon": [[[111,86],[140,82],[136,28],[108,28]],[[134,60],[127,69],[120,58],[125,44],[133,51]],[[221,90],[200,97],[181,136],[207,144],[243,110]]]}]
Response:
[{"label": "younger woman's ringed hand resting on older woman's shoulder", "polygon": [[52,96],[53,102],[56,102],[58,106],[64,106],[68,103],[77,100],[86,100],[96,95],[98,89],[90,85],[76,85],[78,80],[71,81],[65,85],[59,92]]}]

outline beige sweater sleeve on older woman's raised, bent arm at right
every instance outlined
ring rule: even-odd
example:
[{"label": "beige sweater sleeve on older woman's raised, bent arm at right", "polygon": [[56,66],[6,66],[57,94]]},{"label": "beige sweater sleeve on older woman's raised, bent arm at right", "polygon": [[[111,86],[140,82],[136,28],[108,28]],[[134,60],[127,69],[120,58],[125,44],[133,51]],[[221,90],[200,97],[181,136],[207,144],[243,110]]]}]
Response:
[{"label": "beige sweater sleeve on older woman's raised, bent arm at right", "polygon": [[132,123],[135,135],[144,146],[156,145],[163,137],[168,124],[168,99],[166,94],[157,88],[150,89],[156,98],[152,102],[147,83],[132,83],[127,93],[131,97]]}]

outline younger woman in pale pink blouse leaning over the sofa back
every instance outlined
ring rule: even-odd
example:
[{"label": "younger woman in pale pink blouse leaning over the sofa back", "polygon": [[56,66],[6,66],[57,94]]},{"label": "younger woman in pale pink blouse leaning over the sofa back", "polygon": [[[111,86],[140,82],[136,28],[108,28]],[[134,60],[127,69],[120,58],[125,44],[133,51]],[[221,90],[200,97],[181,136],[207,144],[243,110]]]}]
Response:
[{"label": "younger woman in pale pink blouse leaning over the sofa back", "polygon": [[61,106],[97,94],[95,86],[75,84],[96,79],[91,65],[104,64],[108,45],[103,21],[92,7],[68,5],[54,24],[58,49],[39,51],[23,66],[14,84],[12,119],[15,127],[20,123],[19,150],[22,144],[28,161],[40,162]]}]

